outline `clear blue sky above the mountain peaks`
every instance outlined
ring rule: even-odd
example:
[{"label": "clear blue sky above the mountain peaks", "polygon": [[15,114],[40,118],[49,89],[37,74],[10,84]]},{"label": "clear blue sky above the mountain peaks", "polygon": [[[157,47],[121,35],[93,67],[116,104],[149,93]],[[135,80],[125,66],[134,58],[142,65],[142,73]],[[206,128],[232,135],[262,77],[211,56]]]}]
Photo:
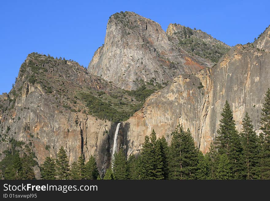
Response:
[{"label": "clear blue sky above the mountain peaks", "polygon": [[201,29],[230,46],[253,42],[270,24],[270,1],[2,1],[0,94],[9,92],[27,54],[88,66],[104,43],[110,15],[133,11],[158,22]]}]

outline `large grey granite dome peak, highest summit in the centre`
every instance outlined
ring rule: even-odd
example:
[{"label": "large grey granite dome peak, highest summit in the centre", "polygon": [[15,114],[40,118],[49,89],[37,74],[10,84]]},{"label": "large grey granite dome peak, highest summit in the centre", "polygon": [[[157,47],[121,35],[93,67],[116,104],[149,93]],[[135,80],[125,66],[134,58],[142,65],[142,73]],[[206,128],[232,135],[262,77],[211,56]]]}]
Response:
[{"label": "large grey granite dome peak, highest summit in the centre", "polygon": [[88,71],[131,90],[138,87],[136,80],[163,83],[211,65],[175,46],[158,23],[125,12],[110,17],[104,45],[95,52]]}]

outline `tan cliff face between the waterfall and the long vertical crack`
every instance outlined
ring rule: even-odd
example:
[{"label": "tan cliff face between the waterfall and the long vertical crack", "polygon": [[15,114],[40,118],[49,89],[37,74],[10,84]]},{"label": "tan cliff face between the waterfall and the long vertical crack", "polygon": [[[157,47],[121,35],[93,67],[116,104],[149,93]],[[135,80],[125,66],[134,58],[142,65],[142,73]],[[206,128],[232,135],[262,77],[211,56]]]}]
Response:
[{"label": "tan cliff face between the waterfall and the long vertical crack", "polygon": [[[190,128],[200,146],[210,102],[208,91],[212,87],[209,73],[209,70],[204,70],[202,74],[182,74],[171,85],[152,94],[144,107],[126,121],[129,124],[128,154],[141,149],[145,136],[150,135],[152,129],[157,136],[164,136],[170,142],[171,133],[179,122]],[[200,88],[200,82],[204,88]]]}]

